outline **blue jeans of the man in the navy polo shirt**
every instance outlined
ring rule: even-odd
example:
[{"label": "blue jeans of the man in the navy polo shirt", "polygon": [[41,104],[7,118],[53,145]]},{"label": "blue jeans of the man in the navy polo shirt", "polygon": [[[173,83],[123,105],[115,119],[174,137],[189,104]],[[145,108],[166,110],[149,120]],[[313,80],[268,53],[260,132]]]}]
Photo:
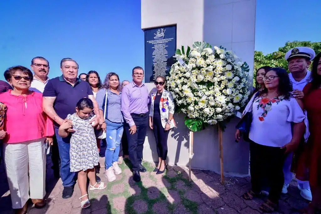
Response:
[{"label": "blue jeans of the man in the navy polo shirt", "polygon": [[58,134],[58,129],[55,128],[59,156],[60,156],[60,177],[62,185],[73,186],[76,183],[76,173],[70,172],[70,135],[66,138],[62,138]]}]

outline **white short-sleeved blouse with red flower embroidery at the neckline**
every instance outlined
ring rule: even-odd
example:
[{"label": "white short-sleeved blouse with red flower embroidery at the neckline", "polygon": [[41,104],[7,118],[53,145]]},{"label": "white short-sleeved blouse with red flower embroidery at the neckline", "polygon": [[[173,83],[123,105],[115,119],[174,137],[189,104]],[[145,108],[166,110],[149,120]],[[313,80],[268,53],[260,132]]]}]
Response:
[{"label": "white short-sleeved blouse with red flower embroidery at the neckline", "polygon": [[283,96],[273,99],[256,97],[252,114],[249,138],[258,144],[272,147],[282,147],[289,143],[292,139],[291,123],[300,123],[306,119],[296,99],[285,99]]}]

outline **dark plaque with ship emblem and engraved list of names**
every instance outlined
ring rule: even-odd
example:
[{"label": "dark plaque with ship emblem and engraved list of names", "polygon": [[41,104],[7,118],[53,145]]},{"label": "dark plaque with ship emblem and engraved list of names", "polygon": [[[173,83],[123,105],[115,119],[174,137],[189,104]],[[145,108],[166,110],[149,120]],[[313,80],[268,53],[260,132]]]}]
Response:
[{"label": "dark plaque with ship emblem and engraved list of names", "polygon": [[167,77],[175,63],[176,26],[144,30],[145,82],[154,82],[157,76]]}]

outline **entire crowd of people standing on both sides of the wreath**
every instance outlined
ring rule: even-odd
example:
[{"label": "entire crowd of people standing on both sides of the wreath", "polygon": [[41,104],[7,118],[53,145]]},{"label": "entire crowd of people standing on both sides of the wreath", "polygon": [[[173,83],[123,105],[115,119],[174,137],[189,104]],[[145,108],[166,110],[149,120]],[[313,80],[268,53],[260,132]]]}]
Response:
[{"label": "entire crowd of people standing on both sides of the wreath", "polygon": [[[311,203],[303,213],[321,208],[321,53],[296,47],[285,56],[284,68],[264,66],[256,71],[256,88],[243,115],[250,113],[251,189],[242,196],[252,200],[261,194],[268,200],[260,209],[278,209],[281,193],[287,193],[296,173],[301,196]],[[308,68],[312,64],[312,71]],[[146,172],[142,165],[147,128],[154,132],[159,162],[156,174],[164,173],[174,100],[159,76],[156,92],[149,96],[142,67],[134,67],[132,81],[120,82],[108,73],[102,82],[96,71],[81,73],[74,59],[61,60],[62,75],[48,78],[49,62],[31,61],[31,70],[14,66],[0,81],[0,139],[13,209],[22,214],[31,199],[36,208],[44,200],[46,154],[51,151],[55,176],[63,182],[63,198],[70,198],[78,180],[81,207],[90,206],[87,192],[106,188],[96,175],[100,146],[105,145],[105,176],[108,182],[122,173],[123,158],[132,163],[133,180]],[[150,109],[148,109],[148,105]],[[19,128],[17,128],[19,127]],[[239,141],[242,133],[237,130]]]}]

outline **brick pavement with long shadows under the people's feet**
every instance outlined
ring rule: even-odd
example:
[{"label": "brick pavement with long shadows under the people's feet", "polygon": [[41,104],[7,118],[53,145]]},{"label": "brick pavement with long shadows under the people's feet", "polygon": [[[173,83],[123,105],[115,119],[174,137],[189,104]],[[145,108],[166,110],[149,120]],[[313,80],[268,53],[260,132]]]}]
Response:
[{"label": "brick pavement with long shadows under the people's feet", "polygon": [[[103,167],[103,158],[101,158]],[[130,163],[127,162],[128,165]],[[166,175],[156,175],[151,172],[154,165],[144,163],[148,172],[141,173],[142,182],[135,183],[132,173],[126,163],[121,165],[123,173],[117,175],[117,180],[108,183],[105,190],[89,191],[91,207],[85,210],[80,208],[80,191],[75,186],[73,197],[62,199],[62,182],[53,178],[47,163],[47,200],[43,209],[28,208],[29,214],[134,214],[134,213],[218,213],[218,214],[257,214],[263,199],[245,201],[241,195],[250,187],[250,178],[226,177],[226,184],[220,184],[220,175],[208,170],[193,170],[192,182],[188,182],[186,167],[169,167]],[[104,169],[99,176],[106,181]],[[12,214],[10,194],[5,177],[3,164],[0,166],[0,214]],[[275,213],[295,214],[298,209],[307,206],[293,180],[289,193],[282,195],[280,211]]]}]

